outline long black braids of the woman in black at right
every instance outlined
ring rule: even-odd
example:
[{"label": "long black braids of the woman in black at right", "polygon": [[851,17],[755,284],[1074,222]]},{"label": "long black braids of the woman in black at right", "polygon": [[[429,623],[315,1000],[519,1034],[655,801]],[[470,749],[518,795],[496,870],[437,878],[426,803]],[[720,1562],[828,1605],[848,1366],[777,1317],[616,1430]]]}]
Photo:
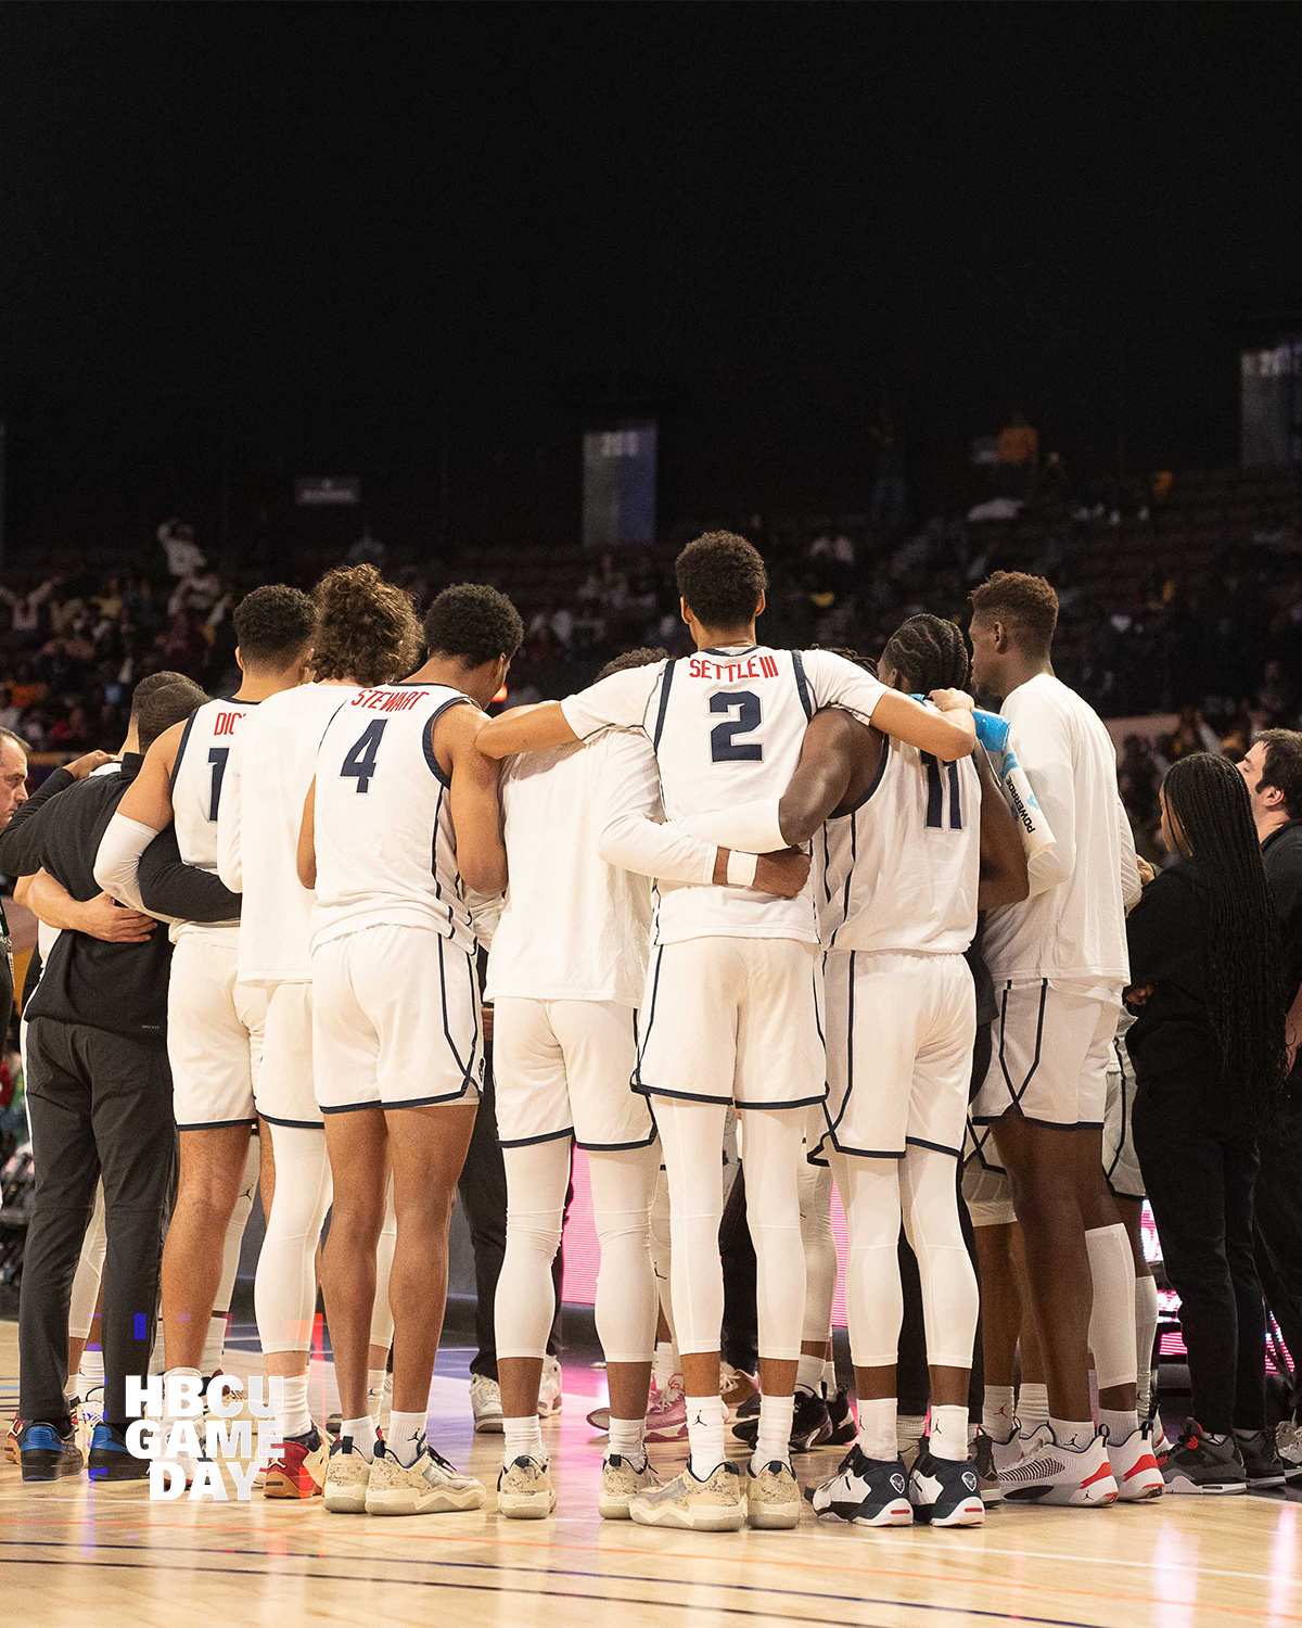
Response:
[{"label": "long black braids of the woman in black at right", "polygon": [[1226,1078],[1263,1122],[1287,1071],[1279,917],[1243,777],[1226,757],[1190,752],[1162,781],[1190,851],[1203,913],[1208,1004]]}]

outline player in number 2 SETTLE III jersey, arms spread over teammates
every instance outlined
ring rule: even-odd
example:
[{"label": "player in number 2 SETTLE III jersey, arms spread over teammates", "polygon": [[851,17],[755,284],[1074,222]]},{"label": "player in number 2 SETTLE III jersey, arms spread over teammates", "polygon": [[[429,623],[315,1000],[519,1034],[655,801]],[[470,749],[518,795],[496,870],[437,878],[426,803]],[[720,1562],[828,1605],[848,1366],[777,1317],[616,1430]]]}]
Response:
[{"label": "player in number 2 SETTLE III jersey, arms spread over teammates", "polygon": [[[750,811],[749,853],[788,847],[778,799],[819,707],[841,703],[944,759],[972,751],[972,713],[936,711],[887,692],[827,651],[757,645],[765,606],[758,552],[708,532],[677,560],[682,617],[697,654],[612,674],[561,703],[506,713],[480,747],[495,757],[571,744],[609,724],[643,731],[656,752],[666,816]],[[947,697],[949,707],[955,700]],[[747,824],[747,822],[742,822]],[[687,1470],[640,1493],[635,1521],[698,1530],[791,1527],[801,1495],[788,1462],[804,1315],[797,1167],[799,1112],[825,1094],[817,926],[809,882],[791,899],[713,884],[662,889],[640,1017],[635,1089],[656,1099],[672,1228],[674,1325],[687,1389]],[[719,1398],[721,1151],[729,1102],[742,1115],[745,1193],[758,1260],[763,1402],[745,1491],[724,1459]]]}]

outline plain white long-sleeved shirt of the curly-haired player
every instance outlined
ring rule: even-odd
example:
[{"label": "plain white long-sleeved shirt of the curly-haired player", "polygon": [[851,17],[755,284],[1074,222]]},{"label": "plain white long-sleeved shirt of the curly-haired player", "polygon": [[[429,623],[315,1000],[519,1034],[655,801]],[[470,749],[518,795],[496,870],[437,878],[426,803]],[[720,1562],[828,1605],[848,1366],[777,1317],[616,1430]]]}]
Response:
[{"label": "plain white long-sleeved shirt of the curly-haired player", "polygon": [[355,684],[299,684],[239,726],[216,827],[223,855],[228,838],[239,845],[241,983],[311,982],[312,892],[298,879],[298,830],[321,736],[356,694]]}]

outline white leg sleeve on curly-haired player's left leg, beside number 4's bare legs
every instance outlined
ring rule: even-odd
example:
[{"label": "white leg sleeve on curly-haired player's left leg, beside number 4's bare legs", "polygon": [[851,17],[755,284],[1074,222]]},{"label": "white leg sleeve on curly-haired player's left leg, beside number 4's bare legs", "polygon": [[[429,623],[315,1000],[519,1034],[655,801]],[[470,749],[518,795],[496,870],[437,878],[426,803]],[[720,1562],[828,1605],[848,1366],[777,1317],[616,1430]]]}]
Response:
[{"label": "white leg sleeve on curly-haired player's left leg, beside number 4's bare legs", "polygon": [[265,1125],[262,1135],[272,1138],[275,1153],[275,1195],[254,1276],[257,1337],[267,1353],[309,1351],[316,1247],[332,1190],[326,1133]]}]

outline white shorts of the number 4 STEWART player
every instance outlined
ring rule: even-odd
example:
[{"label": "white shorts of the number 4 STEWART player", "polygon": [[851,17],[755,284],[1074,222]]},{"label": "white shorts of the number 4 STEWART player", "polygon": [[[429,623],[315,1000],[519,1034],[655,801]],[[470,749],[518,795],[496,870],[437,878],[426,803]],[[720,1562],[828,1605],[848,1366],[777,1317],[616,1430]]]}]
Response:
[{"label": "white shorts of the number 4 STEWART player", "polygon": [[478,975],[423,926],[366,926],[312,951],[312,1074],[322,1114],[477,1102]]}]

